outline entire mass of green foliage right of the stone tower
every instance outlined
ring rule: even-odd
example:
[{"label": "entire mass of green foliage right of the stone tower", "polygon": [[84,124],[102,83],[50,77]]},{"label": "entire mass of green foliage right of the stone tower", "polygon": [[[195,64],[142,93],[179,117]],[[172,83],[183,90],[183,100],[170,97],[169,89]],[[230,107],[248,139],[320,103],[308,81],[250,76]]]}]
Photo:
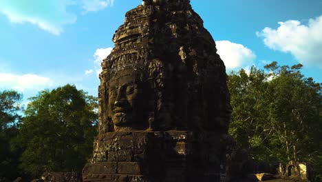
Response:
[{"label": "entire mass of green foliage right of the stone tower", "polygon": [[322,172],[321,83],[301,74],[302,65],[228,75],[233,106],[230,134],[257,161],[304,161]]}]

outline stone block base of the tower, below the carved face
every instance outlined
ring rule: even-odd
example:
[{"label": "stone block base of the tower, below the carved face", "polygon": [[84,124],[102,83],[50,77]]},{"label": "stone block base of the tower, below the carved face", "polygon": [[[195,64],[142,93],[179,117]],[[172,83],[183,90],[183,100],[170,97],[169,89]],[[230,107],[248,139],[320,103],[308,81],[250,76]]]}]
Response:
[{"label": "stone block base of the tower, below the carved face", "polygon": [[109,132],[96,141],[83,181],[219,181],[219,140],[210,132]]}]

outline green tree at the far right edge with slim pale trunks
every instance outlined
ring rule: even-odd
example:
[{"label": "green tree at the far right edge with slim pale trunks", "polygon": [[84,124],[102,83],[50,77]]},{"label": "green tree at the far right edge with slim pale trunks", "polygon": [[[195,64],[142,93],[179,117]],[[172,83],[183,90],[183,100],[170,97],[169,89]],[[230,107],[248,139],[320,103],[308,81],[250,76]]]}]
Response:
[{"label": "green tree at the far right edge with slim pale trunks", "polygon": [[322,162],[321,83],[303,77],[302,66],[279,67],[276,62],[266,66],[273,77],[269,88],[274,98],[270,121],[275,123],[275,134],[283,143],[284,161],[307,161],[318,167]]}]

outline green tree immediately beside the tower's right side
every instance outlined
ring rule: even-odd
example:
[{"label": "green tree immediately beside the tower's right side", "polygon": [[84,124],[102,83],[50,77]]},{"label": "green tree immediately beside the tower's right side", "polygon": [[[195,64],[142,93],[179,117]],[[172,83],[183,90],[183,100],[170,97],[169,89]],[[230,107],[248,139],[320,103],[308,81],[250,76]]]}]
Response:
[{"label": "green tree immediately beside the tower's right side", "polygon": [[229,132],[237,143],[247,148],[257,161],[272,161],[267,152],[272,152],[272,123],[268,122],[270,92],[268,74],[253,66],[228,75],[232,122]]}]

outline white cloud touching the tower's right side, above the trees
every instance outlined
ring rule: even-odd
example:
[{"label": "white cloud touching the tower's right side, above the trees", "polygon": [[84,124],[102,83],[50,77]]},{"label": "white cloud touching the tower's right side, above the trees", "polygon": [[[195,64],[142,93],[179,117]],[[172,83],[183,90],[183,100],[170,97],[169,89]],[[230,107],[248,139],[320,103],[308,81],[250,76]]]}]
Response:
[{"label": "white cloud touching the tower's right side, above the trees", "polygon": [[256,58],[254,52],[244,45],[230,41],[216,41],[217,53],[224,61],[226,68],[240,68],[251,65]]}]

